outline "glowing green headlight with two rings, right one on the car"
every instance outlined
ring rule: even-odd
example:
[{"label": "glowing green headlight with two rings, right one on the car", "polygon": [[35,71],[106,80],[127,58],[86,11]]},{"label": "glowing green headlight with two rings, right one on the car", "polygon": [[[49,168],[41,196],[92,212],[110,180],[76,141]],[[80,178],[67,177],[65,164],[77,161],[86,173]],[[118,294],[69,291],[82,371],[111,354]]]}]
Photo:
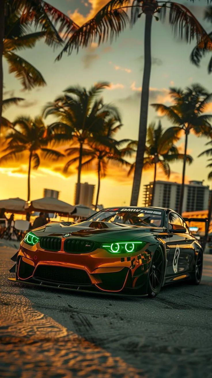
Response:
[{"label": "glowing green headlight with two rings, right one on the car", "polygon": [[142,249],[145,242],[114,242],[102,244],[102,248],[110,253],[131,253]]}]

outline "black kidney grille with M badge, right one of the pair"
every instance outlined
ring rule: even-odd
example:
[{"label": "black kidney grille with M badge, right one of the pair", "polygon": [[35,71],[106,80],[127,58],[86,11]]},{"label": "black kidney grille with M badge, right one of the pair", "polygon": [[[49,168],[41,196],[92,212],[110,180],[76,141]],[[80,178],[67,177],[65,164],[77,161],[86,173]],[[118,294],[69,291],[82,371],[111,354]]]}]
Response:
[{"label": "black kidney grille with M badge, right one of the pair", "polygon": [[96,243],[91,240],[67,239],[64,243],[64,251],[70,253],[88,253],[95,248]]}]

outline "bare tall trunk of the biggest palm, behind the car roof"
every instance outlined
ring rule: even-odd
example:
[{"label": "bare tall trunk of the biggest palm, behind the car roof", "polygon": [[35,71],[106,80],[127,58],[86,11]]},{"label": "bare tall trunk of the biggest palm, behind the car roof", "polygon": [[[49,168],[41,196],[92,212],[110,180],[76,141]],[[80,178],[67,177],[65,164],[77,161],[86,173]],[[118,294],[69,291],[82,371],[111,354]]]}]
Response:
[{"label": "bare tall trunk of the biggest palm, behind the car roof", "polygon": [[141,109],[138,134],[138,150],[136,155],[135,173],[130,205],[137,206],[139,189],[141,185],[142,169],[144,165],[145,143],[147,135],[147,116],[149,105],[149,83],[151,73],[151,30],[152,14],[145,15],[145,35],[144,35],[144,73],[141,93]]}]

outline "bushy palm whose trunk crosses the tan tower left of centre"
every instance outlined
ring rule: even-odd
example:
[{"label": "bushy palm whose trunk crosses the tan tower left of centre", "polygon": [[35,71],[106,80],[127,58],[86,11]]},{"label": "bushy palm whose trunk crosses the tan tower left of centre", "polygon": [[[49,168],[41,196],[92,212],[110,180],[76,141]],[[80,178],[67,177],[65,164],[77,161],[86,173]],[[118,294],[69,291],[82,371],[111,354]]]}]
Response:
[{"label": "bushy palm whose trunk crosses the tan tower left of centre", "polygon": [[57,138],[58,142],[73,139],[68,151],[69,155],[76,152],[76,147],[79,150],[76,203],[79,203],[82,156],[86,141],[88,138],[101,135],[104,122],[109,116],[121,121],[118,108],[104,104],[101,98],[96,98],[108,85],[107,82],[99,82],[88,91],[79,86],[68,87],[64,91],[65,95],[55,99],[54,102],[49,102],[44,108],[45,117],[57,116],[58,121],[51,125],[55,133],[54,138]]}]

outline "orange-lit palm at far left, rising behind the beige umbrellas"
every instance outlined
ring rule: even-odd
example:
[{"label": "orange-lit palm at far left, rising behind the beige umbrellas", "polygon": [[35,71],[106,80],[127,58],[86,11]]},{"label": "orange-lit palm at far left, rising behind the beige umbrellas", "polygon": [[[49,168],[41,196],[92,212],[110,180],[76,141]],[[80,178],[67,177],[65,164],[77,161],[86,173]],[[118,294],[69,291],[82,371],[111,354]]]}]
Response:
[{"label": "orange-lit palm at far left, rising behind the beige umbrellas", "polygon": [[6,139],[8,140],[8,146],[3,150],[5,155],[0,158],[0,163],[6,163],[11,159],[19,159],[25,151],[28,153],[27,200],[29,201],[31,168],[37,169],[39,167],[41,153],[44,154],[44,159],[54,160],[64,155],[48,146],[53,141],[53,137],[45,127],[41,117],[36,117],[35,119],[28,116],[18,117],[14,121],[14,129],[8,132]]}]

